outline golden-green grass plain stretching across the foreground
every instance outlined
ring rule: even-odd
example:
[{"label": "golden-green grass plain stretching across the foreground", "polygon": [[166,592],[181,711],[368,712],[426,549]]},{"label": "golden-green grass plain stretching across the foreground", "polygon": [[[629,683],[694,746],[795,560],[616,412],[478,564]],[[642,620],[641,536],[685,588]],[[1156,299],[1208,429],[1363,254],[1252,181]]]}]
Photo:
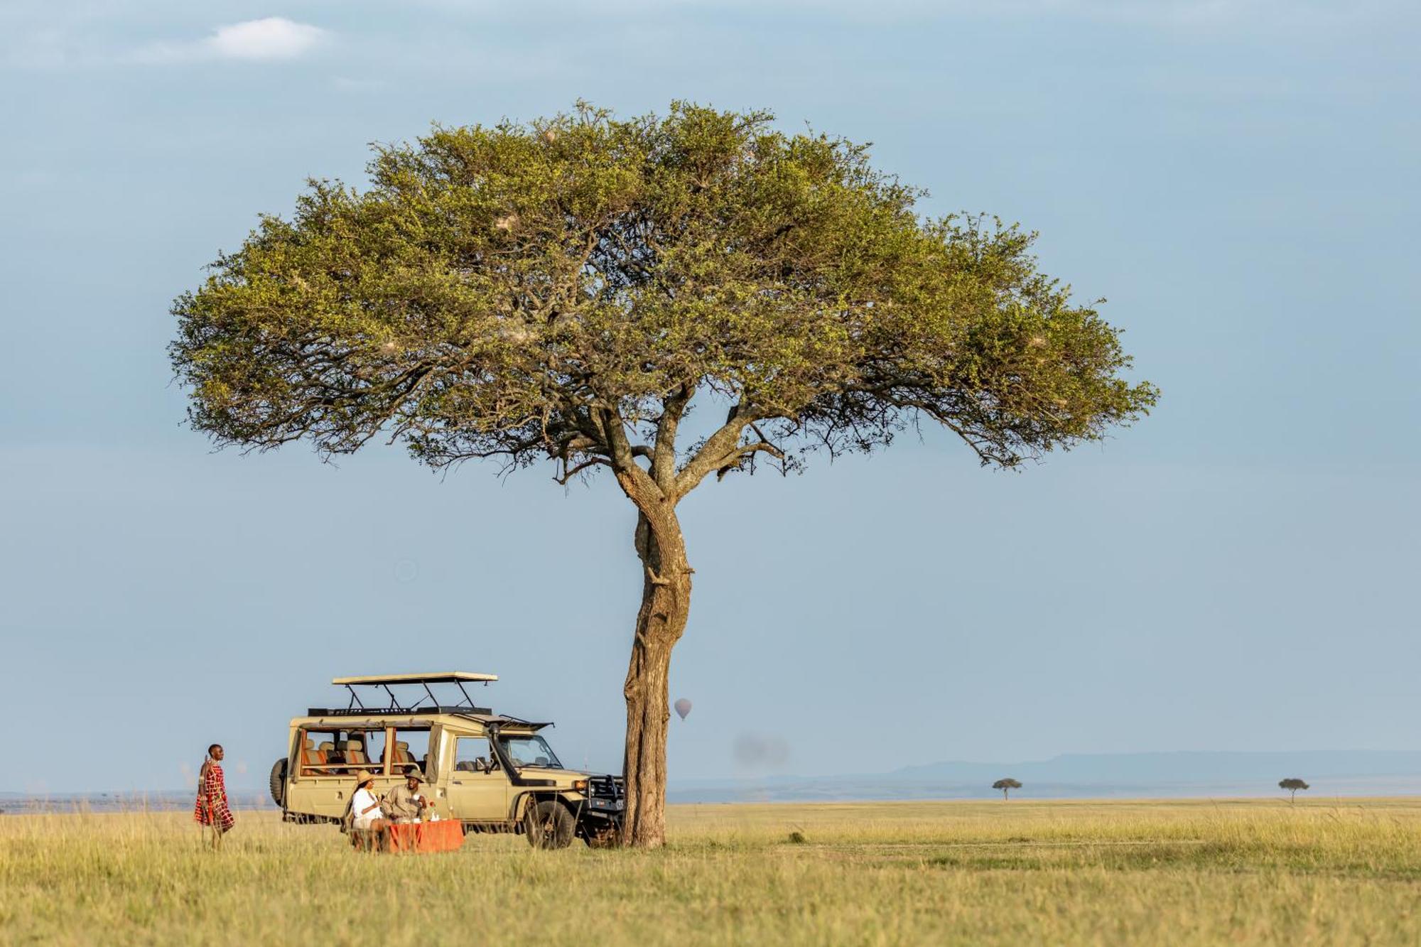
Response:
[{"label": "golden-green grass plain stretching across the foreground", "polygon": [[7,816],[0,941],[1421,943],[1421,799],[672,806],[669,838],[369,856],[246,812],[210,852],[182,813]]}]

